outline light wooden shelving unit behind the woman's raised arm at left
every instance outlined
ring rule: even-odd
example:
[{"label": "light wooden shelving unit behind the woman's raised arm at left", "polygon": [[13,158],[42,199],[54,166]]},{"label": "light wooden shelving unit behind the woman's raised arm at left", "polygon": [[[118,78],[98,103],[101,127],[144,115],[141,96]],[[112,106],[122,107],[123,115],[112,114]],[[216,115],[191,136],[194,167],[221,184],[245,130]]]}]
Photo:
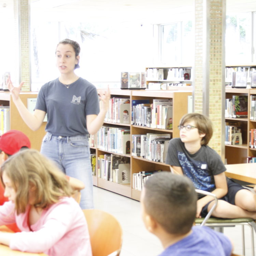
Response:
[{"label": "light wooden shelving unit behind the woman's raised arm at left", "polygon": [[[38,93],[35,92],[21,92],[20,99],[27,106],[29,98],[37,98]],[[45,135],[46,122],[37,131],[32,131],[21,118],[10,92],[0,92],[0,104],[3,106],[10,106],[10,129],[15,129],[24,132],[31,142],[31,148],[40,151],[42,139]]]}]

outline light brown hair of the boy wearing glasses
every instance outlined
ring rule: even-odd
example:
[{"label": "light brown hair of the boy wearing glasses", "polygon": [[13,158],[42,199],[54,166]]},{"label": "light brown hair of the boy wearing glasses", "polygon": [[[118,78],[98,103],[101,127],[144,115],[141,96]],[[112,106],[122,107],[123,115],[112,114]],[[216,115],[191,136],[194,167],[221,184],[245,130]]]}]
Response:
[{"label": "light brown hair of the boy wearing glasses", "polygon": [[209,117],[199,113],[188,113],[181,118],[180,125],[184,125],[190,120],[193,120],[195,122],[199,134],[205,133],[205,136],[201,140],[201,145],[206,146],[212,138],[213,134],[211,120],[209,119]]}]

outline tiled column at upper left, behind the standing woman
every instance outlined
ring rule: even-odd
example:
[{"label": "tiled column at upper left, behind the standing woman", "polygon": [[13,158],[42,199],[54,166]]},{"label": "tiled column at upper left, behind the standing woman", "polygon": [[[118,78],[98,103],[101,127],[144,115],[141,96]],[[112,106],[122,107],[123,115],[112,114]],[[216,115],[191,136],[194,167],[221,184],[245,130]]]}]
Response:
[{"label": "tiled column at upper left, behind the standing woman", "polygon": [[30,0],[14,0],[14,18],[19,50],[19,81],[24,81],[23,91],[30,91]]}]

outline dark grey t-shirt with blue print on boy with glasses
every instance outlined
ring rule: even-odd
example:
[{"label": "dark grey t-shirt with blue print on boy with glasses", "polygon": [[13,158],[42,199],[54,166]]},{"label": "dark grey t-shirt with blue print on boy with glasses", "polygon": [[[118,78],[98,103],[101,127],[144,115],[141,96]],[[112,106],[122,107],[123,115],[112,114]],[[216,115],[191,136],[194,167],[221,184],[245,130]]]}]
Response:
[{"label": "dark grey t-shirt with blue print on boy with glasses", "polygon": [[221,157],[209,146],[202,145],[198,152],[190,154],[180,138],[170,140],[166,163],[179,166],[197,189],[215,189],[213,175],[226,171]]}]

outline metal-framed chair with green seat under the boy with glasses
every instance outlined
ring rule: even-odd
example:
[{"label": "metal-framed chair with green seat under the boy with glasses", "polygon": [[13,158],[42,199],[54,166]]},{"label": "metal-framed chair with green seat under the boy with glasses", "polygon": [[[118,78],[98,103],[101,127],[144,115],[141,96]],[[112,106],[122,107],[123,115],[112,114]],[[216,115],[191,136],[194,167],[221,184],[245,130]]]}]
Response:
[{"label": "metal-framed chair with green seat under the boy with glasses", "polygon": [[[215,204],[213,205],[212,209],[208,212],[207,216],[205,218],[196,218],[195,224],[196,225],[205,225],[212,228],[216,228],[217,231],[223,232],[224,227],[234,227],[236,225],[241,225],[242,227],[242,250],[243,255],[245,255],[245,239],[244,239],[244,226],[250,227],[251,231],[251,245],[252,245],[252,255],[254,256],[254,231],[256,232],[256,223],[254,219],[252,218],[234,218],[234,219],[224,219],[224,218],[215,218],[211,217],[212,212],[217,206],[217,197],[209,193],[207,191],[196,189],[196,192],[203,195],[210,195],[214,198]],[[234,254],[235,255],[235,254]]]}]

